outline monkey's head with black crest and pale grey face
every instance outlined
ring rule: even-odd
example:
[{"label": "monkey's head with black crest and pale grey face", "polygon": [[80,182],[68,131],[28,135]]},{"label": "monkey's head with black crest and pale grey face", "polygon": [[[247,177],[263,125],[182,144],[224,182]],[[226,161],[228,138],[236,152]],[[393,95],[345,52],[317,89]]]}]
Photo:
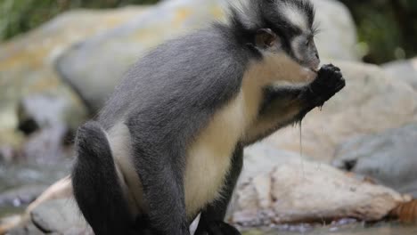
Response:
[{"label": "monkey's head with black crest and pale grey face", "polygon": [[309,0],[248,0],[233,12],[233,23],[252,36],[260,51],[286,53],[301,66],[316,70],[320,64],[315,47],[315,8]]}]

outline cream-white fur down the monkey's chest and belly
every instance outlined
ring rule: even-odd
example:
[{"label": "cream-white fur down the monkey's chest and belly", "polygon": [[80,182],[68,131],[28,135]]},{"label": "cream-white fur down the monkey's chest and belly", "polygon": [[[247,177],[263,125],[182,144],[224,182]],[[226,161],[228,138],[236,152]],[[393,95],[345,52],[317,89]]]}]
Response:
[{"label": "cream-white fur down the monkey's chest and belly", "polygon": [[189,216],[221,195],[233,150],[248,123],[244,100],[245,94],[241,91],[217,112],[188,150],[184,190]]}]

